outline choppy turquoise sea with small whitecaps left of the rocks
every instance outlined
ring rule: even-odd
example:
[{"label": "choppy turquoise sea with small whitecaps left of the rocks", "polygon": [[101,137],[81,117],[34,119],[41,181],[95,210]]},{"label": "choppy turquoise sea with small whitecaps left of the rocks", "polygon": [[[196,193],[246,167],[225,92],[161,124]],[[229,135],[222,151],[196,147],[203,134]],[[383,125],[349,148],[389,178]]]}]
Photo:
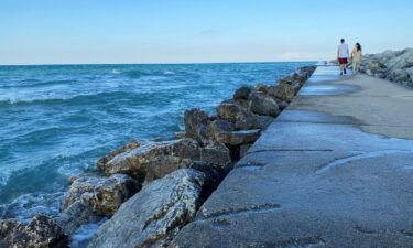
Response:
[{"label": "choppy turquoise sea with small whitecaps left of the rocks", "polygon": [[0,66],[0,217],[53,215],[67,177],[110,150],[171,139],[185,109],[309,64]]}]

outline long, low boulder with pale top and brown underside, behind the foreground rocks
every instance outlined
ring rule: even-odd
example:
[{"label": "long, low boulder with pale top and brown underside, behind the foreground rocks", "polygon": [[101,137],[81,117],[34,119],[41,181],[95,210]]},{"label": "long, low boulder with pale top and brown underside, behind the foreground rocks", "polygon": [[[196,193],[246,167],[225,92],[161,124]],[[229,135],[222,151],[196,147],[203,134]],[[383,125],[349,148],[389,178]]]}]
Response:
[{"label": "long, low boulder with pale top and brown underside, behind the foreground rocks", "polygon": [[145,184],[178,169],[191,168],[200,160],[222,168],[229,164],[227,159],[219,160],[225,155],[209,155],[214,152],[227,153],[229,158],[228,150],[200,147],[193,139],[150,143],[115,157],[100,169],[107,175],[123,173]]}]

